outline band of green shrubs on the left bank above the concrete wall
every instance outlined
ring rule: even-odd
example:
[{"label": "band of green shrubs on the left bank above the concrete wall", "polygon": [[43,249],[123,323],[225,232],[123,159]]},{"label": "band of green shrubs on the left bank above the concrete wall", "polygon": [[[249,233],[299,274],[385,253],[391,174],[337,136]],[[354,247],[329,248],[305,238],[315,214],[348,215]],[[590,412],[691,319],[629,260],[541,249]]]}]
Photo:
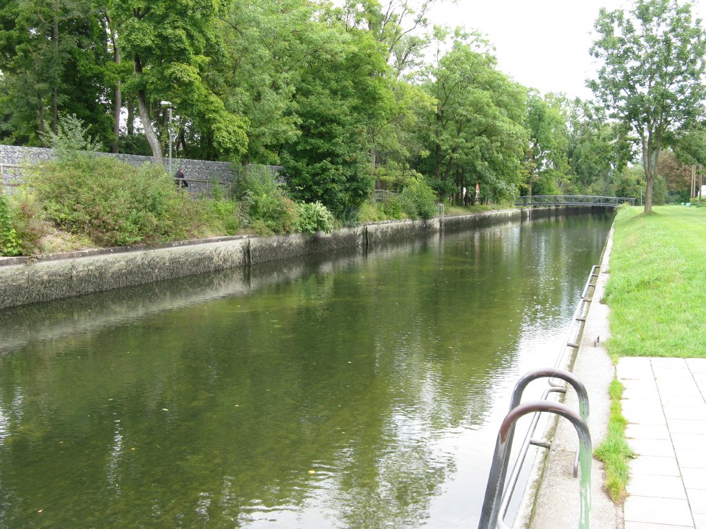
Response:
[{"label": "band of green shrubs on the left bank above the concrete wall", "polygon": [[411,182],[381,205],[369,202],[335,219],[321,202],[299,202],[265,167],[249,167],[233,190],[193,197],[160,166],[134,167],[90,152],[64,150],[28,169],[28,182],[0,194],[0,255],[156,244],[237,233],[330,232],[344,224],[382,219],[429,219],[435,197]]}]

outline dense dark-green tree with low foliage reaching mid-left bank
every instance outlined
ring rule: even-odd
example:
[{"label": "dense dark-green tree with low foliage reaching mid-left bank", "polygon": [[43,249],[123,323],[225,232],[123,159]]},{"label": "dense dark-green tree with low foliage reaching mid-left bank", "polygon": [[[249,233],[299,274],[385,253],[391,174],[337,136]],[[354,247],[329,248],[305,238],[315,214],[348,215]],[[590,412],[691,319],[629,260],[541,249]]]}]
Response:
[{"label": "dense dark-green tree with low foliage reaching mid-left bank", "polygon": [[295,98],[301,135],[283,147],[282,164],[295,197],[349,219],[373,190],[366,132],[393,97],[388,65],[369,32],[323,22],[311,30]]}]

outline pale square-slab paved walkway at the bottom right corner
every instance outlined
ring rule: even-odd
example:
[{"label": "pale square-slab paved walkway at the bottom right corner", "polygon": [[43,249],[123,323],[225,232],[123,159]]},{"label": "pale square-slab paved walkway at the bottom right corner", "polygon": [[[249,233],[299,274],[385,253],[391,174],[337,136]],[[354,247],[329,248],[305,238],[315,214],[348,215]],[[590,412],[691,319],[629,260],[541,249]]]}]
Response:
[{"label": "pale square-slab paved walkway at the bottom right corner", "polygon": [[706,529],[706,358],[621,358],[625,529]]}]

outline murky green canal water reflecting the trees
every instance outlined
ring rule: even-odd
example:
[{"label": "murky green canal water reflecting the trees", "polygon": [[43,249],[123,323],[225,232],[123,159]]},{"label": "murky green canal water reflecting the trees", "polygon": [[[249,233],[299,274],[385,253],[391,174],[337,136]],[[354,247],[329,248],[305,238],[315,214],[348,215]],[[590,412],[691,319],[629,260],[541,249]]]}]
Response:
[{"label": "murky green canal water reflecting the trees", "polygon": [[611,217],[0,312],[2,528],[467,528]]}]

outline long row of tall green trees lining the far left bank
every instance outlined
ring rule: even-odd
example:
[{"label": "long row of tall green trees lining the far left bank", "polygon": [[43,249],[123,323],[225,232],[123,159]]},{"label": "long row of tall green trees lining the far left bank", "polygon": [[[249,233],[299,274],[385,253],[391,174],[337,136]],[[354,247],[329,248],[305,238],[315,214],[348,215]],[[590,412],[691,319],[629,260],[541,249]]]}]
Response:
[{"label": "long row of tall green trees lining the far left bank", "polygon": [[160,159],[171,132],[176,157],[284,166],[338,218],[415,182],[457,202],[477,184],[466,200],[639,196],[625,128],[515,83],[477,33],[430,27],[433,7],[8,0],[0,142],[44,145],[75,114],[103,150]]}]

